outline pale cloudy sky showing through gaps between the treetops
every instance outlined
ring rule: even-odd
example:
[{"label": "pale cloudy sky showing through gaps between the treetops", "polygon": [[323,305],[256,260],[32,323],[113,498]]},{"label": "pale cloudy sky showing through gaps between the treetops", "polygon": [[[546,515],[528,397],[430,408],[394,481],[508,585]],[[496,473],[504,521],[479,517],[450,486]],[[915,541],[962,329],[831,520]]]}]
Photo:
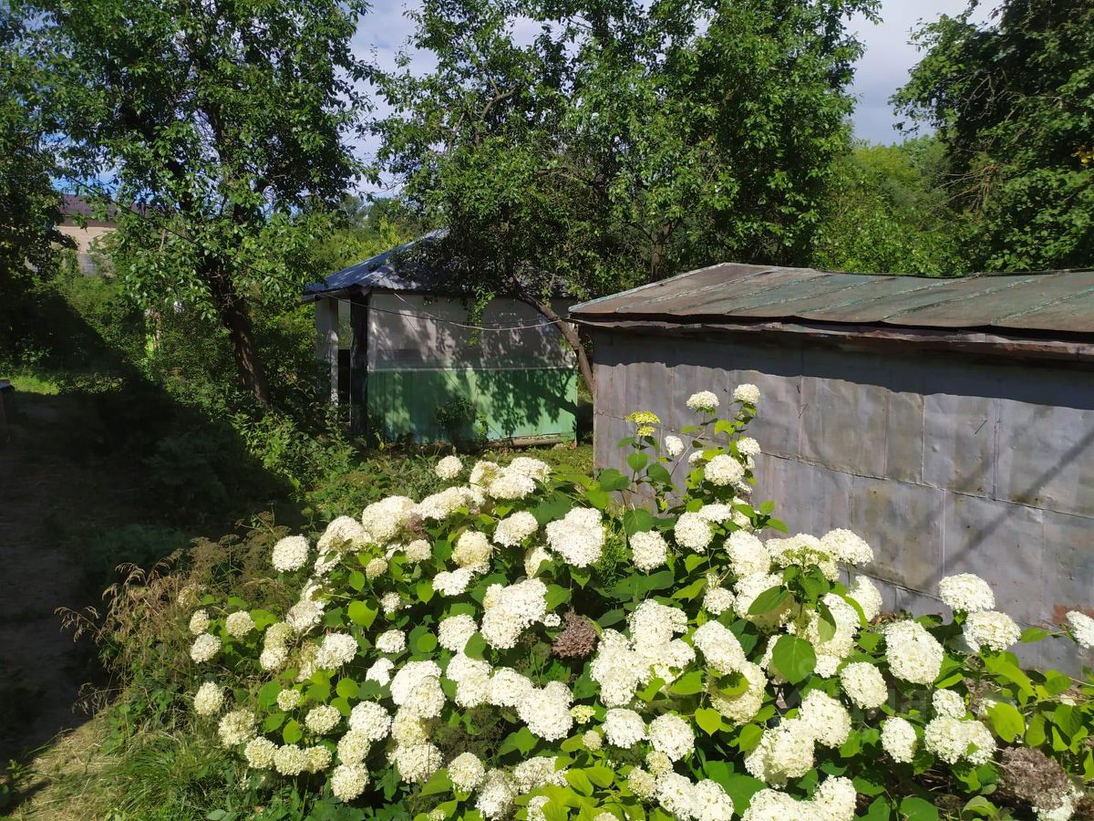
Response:
[{"label": "pale cloudy sky showing through gaps between the treetops", "polygon": [[[406,16],[415,0],[374,0],[369,14],[361,22],[353,47],[361,57],[375,59],[383,68],[395,65],[395,55],[411,31]],[[850,22],[850,28],[865,43],[865,54],[859,61],[852,92],[858,105],[852,117],[856,137],[871,142],[895,142],[901,139],[895,129],[897,116],[888,99],[908,79],[908,71],[918,61],[919,53],[909,43],[911,32],[920,21],[938,20],[941,14],[958,14],[966,8],[966,0],[882,0],[882,22],[870,23],[863,18]],[[987,20],[988,9],[978,12],[976,20]],[[428,55],[416,55],[414,68],[428,71]],[[369,154],[372,146],[363,146]]]}]

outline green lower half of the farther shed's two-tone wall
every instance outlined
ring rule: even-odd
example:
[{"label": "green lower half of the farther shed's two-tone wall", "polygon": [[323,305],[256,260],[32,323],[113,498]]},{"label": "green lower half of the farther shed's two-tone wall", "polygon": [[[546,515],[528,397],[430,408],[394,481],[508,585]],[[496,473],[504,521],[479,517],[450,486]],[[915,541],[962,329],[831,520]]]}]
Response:
[{"label": "green lower half of the farther shed's two-tone wall", "polygon": [[[372,371],[370,427],[385,439],[573,439],[578,375],[570,368]],[[474,418],[473,418],[474,417]]]}]

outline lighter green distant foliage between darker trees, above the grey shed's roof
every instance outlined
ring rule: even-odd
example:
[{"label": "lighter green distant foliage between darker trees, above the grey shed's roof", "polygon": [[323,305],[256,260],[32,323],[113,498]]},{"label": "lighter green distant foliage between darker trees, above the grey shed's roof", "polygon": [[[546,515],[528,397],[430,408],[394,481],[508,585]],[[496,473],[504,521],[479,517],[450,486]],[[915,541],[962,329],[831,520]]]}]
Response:
[{"label": "lighter green distant foliage between darker trees, above the grey shed's roof", "polygon": [[856,146],[839,161],[825,194],[812,264],[862,273],[961,273],[962,221],[950,208],[944,178],[944,147],[932,137]]}]

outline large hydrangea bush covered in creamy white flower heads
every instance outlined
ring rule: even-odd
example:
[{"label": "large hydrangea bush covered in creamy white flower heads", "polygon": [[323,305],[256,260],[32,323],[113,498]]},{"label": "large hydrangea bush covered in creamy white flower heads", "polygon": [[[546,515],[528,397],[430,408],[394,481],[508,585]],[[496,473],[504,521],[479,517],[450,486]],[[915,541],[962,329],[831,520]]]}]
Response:
[{"label": "large hydrangea bush covered in creamy white flower heads", "polygon": [[189,591],[199,720],[255,778],[430,821],[1092,817],[1091,679],[1011,650],[1094,621],[1023,633],[970,575],[950,618],[883,615],[862,539],[753,505],[759,398],[633,414],[628,473],[447,456],[278,542],[284,613]]}]

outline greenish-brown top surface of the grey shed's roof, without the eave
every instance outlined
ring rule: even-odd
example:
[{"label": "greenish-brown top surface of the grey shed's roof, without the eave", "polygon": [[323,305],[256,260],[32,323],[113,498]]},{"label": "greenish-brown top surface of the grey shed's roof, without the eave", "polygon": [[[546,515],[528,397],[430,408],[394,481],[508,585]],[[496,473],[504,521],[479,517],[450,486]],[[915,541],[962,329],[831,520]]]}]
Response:
[{"label": "greenish-brown top surface of the grey shed's roof, without the eave", "polygon": [[1094,271],[920,277],[725,263],[574,305],[586,322],[794,322],[1094,334]]}]

